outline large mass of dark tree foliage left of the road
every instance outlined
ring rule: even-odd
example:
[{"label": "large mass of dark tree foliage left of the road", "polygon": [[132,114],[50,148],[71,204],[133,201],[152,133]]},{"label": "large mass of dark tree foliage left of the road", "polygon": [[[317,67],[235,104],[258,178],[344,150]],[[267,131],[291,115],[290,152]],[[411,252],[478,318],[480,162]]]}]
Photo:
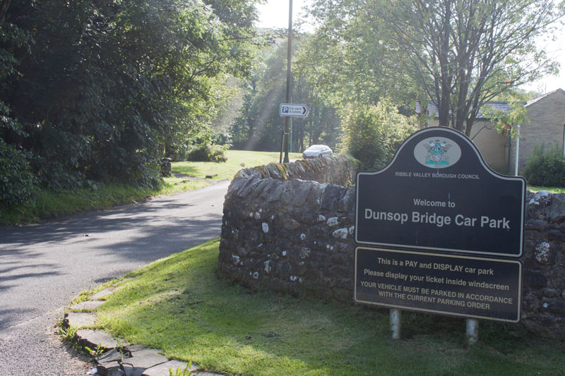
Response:
[{"label": "large mass of dark tree foliage left of the road", "polygon": [[[255,0],[2,1],[0,138],[43,187],[158,186],[245,76]],[[17,119],[17,121],[16,121]]]}]

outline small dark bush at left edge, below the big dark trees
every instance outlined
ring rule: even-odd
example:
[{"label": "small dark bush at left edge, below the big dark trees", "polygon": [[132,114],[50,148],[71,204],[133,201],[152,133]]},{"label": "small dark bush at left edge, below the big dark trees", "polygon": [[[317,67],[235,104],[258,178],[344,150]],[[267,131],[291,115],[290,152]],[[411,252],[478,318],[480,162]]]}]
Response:
[{"label": "small dark bush at left edge, below the big dark trees", "polygon": [[0,138],[0,204],[30,202],[37,179],[30,168],[30,155]]}]

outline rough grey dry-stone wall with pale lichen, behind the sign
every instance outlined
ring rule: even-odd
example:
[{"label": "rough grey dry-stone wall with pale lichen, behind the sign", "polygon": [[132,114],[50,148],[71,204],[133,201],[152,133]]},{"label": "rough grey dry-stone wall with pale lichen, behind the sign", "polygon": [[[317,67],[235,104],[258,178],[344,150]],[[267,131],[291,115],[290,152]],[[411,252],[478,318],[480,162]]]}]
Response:
[{"label": "rough grey dry-stone wall with pale lichen, behind the sign", "polygon": [[[352,303],[355,188],[335,184],[354,176],[343,157],[239,171],[224,204],[220,271],[251,288]],[[526,204],[522,322],[565,339],[565,194],[528,192]]]}]

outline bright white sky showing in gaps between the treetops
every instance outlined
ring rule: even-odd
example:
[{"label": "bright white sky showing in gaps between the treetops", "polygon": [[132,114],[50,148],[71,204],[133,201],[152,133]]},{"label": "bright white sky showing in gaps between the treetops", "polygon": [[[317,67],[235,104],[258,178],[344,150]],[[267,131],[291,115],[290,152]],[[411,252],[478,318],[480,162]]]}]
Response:
[{"label": "bright white sky showing in gaps between the treetops", "polygon": [[[310,5],[312,0],[292,0],[292,23],[299,19],[301,13],[303,14],[302,7]],[[266,4],[258,6],[259,21],[257,26],[259,28],[288,28],[288,4],[287,0],[268,0]],[[314,25],[305,23],[302,31],[311,32],[314,30]],[[542,43],[542,42],[540,42]],[[559,88],[565,90],[565,43],[563,39],[559,38],[556,42],[548,45],[547,50],[549,56],[561,63],[560,73],[557,76],[550,75],[534,83],[530,83],[523,87],[525,90],[535,90],[541,92],[552,92]]]}]

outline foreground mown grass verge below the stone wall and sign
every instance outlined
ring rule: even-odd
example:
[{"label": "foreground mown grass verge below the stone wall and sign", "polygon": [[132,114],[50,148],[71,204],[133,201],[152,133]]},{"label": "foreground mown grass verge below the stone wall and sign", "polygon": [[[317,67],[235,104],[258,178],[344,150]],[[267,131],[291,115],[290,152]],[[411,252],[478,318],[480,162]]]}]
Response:
[{"label": "foreground mown grass verge below the stone wall and sign", "polygon": [[218,240],[126,275],[98,309],[113,334],[230,375],[565,375],[565,344],[518,325],[482,322],[465,347],[464,321],[252,292],[215,272]]}]

